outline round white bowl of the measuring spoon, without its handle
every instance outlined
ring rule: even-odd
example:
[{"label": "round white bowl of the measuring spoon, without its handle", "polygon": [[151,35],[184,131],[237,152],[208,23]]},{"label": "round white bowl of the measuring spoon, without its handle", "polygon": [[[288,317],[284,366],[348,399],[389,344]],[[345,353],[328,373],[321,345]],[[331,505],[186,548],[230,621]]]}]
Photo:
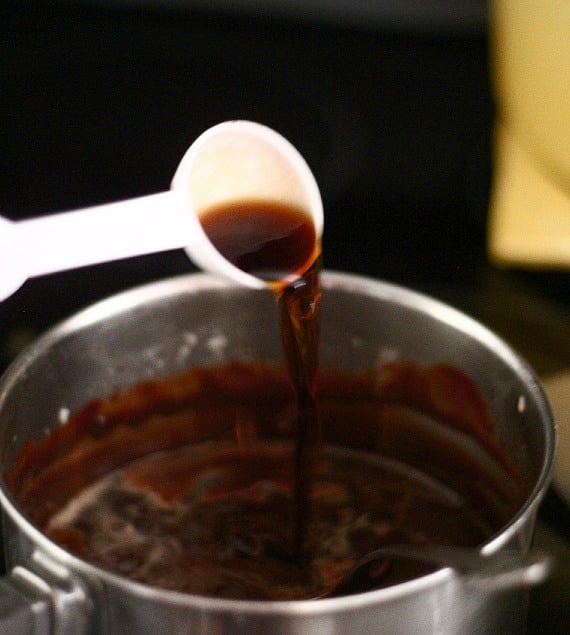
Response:
[{"label": "round white bowl of the measuring spoon, without its handle", "polygon": [[[194,212],[188,256],[205,271],[247,287],[267,282],[232,265],[214,247],[200,223],[208,210],[235,201],[278,203],[305,211],[318,242],[323,233],[321,196],[309,166],[284,137],[253,122],[225,122],[200,135],[182,158],[172,189]],[[288,281],[296,277],[291,272]]]}]

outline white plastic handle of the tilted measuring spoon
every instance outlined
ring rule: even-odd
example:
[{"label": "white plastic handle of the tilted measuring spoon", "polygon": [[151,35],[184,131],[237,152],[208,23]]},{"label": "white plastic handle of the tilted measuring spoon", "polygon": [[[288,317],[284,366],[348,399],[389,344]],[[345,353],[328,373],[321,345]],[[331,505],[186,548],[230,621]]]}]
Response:
[{"label": "white plastic handle of the tilted measuring spoon", "polygon": [[190,216],[170,190],[18,222],[0,217],[0,300],[27,278],[185,247]]}]

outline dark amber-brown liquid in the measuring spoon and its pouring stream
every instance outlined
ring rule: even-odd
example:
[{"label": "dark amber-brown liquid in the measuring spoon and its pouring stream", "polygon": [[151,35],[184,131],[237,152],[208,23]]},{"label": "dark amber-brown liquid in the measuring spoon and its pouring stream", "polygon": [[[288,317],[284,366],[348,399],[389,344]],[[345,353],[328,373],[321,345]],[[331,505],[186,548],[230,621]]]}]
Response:
[{"label": "dark amber-brown liquid in the measuring spoon and its pouring stream", "polygon": [[[281,557],[309,557],[305,537],[310,516],[312,468],[320,441],[316,404],[319,353],[320,244],[301,209],[272,201],[239,201],[200,216],[204,231],[229,262],[273,289],[297,416],[294,450],[291,545]],[[287,282],[292,280],[291,282]]]}]

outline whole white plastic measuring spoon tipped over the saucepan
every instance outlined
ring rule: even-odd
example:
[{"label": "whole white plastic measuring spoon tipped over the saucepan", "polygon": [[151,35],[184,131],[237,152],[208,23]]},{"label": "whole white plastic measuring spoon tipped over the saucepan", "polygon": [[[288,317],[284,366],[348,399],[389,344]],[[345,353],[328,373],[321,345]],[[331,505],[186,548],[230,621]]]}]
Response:
[{"label": "whole white plastic measuring spoon tipped over the saucepan", "polygon": [[319,189],[299,152],[266,126],[227,121],[190,146],[169,191],[23,221],[0,217],[0,301],[28,278],[178,248],[206,271],[266,287],[216,251],[199,221],[241,200],[301,208],[322,236]]}]

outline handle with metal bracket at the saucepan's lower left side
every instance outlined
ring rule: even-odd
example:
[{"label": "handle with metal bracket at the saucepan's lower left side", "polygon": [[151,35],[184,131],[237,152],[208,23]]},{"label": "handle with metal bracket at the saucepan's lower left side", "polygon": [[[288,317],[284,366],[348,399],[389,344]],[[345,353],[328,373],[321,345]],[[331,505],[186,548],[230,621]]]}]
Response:
[{"label": "handle with metal bracket at the saucepan's lower left side", "polygon": [[86,635],[90,609],[83,586],[41,552],[0,578],[0,633]]}]

